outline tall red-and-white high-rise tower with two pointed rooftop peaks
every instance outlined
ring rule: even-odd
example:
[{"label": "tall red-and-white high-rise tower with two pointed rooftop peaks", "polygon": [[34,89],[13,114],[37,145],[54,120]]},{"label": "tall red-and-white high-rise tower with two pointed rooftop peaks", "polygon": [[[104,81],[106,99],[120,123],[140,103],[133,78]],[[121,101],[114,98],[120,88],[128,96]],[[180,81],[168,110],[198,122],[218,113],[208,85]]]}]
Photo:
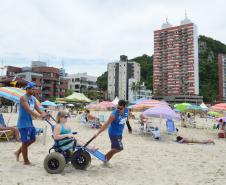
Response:
[{"label": "tall red-and-white high-rise tower with two pointed rooftop peaks", "polygon": [[197,27],[187,16],[179,26],[168,20],[154,31],[154,95],[199,94]]}]

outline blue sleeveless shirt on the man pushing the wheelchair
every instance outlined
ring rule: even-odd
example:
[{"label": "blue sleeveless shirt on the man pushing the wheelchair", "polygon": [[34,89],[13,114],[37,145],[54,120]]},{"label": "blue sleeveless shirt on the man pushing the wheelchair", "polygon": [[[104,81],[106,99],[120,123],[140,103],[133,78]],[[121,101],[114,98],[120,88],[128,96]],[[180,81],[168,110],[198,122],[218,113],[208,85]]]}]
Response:
[{"label": "blue sleeveless shirt on the man pushing the wheelchair", "polygon": [[[24,96],[27,99],[31,110],[34,111],[36,98],[34,96],[28,97],[26,94]],[[20,109],[19,109],[19,117],[18,117],[18,121],[17,121],[17,127],[18,128],[33,127],[32,117],[31,117],[30,113],[28,113],[21,104],[20,104]]]}]

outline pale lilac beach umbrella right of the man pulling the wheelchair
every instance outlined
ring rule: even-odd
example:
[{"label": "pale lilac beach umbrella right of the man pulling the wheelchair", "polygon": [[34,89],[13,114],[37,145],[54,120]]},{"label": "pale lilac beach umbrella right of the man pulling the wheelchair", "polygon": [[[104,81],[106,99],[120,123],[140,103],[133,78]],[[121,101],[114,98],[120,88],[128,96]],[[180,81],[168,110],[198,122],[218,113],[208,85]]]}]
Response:
[{"label": "pale lilac beach umbrella right of the man pulling the wheelchair", "polygon": [[176,120],[180,120],[180,116],[173,111],[169,106],[159,106],[147,109],[142,113],[144,116],[157,117],[157,118],[168,118],[171,117]]}]

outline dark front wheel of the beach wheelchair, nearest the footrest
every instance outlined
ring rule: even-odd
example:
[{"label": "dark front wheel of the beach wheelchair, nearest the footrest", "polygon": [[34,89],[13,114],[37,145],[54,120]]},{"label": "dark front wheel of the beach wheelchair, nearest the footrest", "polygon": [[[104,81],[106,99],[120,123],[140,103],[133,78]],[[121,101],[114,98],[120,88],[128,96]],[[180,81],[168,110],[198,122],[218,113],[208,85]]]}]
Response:
[{"label": "dark front wheel of the beach wheelchair, nearest the footrest", "polygon": [[91,156],[87,151],[77,150],[71,157],[71,164],[76,169],[85,170],[91,164]]}]

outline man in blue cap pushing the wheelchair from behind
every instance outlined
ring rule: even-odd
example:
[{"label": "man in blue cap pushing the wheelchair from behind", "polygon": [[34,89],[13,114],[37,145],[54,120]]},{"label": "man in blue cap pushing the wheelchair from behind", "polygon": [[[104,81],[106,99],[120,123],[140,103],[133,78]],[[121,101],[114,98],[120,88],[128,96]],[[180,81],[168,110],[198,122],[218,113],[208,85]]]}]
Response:
[{"label": "man in blue cap pushing the wheelchair from behind", "polygon": [[22,153],[25,165],[31,164],[28,159],[28,147],[35,142],[36,131],[32,123],[32,117],[44,118],[46,116],[46,113],[38,107],[36,98],[33,96],[35,88],[36,84],[29,82],[25,86],[26,94],[20,98],[17,127],[20,132],[22,146],[15,152],[15,155],[17,161],[19,161],[19,156]]}]

